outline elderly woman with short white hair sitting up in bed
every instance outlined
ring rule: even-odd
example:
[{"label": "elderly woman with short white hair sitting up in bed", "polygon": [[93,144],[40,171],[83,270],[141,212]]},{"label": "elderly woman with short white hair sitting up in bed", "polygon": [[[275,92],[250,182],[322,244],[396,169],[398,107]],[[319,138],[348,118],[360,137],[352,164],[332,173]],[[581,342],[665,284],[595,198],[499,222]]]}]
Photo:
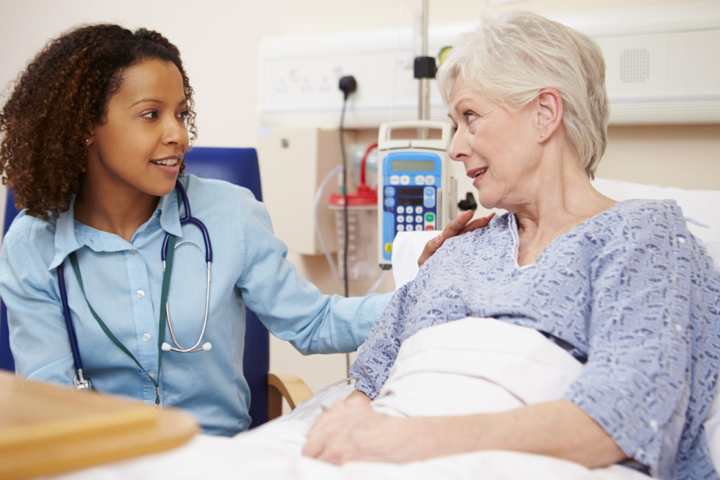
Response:
[{"label": "elderly woman with short white hair sitting up in bed", "polygon": [[[718,478],[703,418],[719,369],[720,280],[674,201],[613,201],[590,179],[606,148],[605,63],[589,37],[536,14],[487,19],[438,72],[449,154],[480,203],[508,212],[451,240],[399,289],[361,346],[356,391],[305,455],[413,461],[541,453],[660,478]],[[584,362],[549,402],[396,418],[370,407],[400,345],[463,317],[531,327]]]}]

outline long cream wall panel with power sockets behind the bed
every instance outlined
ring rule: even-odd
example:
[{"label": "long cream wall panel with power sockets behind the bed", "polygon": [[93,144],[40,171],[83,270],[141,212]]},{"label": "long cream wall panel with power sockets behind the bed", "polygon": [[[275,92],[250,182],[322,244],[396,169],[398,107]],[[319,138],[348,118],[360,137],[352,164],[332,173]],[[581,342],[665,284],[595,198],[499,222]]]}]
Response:
[{"label": "long cream wall panel with power sockets behind the bed", "polygon": [[[720,1],[688,1],[572,12],[552,18],[598,41],[606,58],[613,124],[720,122]],[[428,54],[436,56],[475,23],[430,25]],[[264,126],[338,126],[352,75],[346,127],[378,127],[418,118],[413,78],[413,31],[361,30],[264,39],[258,69]],[[431,119],[446,118],[431,85]]]}]

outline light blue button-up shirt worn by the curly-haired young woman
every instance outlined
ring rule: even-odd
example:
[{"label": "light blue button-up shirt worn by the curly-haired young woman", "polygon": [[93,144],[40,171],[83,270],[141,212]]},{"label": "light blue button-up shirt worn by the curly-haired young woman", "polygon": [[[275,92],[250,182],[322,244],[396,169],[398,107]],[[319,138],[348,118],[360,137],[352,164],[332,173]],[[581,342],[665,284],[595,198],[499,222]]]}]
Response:
[{"label": "light blue button-up shirt worn by the curly-haired young woman", "polygon": [[[345,299],[321,294],[287,261],[286,246],[273,235],[264,205],[250,191],[192,175],[181,182],[193,216],[207,226],[212,242],[210,312],[203,340],[212,343],[212,350],[163,353],[161,404],[189,410],[206,433],[233,435],[250,421],[250,393],[243,377],[246,305],[270,332],[302,353],[346,352],[362,343],[390,295]],[[178,243],[189,240],[202,248],[186,243],[175,250],[168,301],[181,345],[197,341],[204,317],[204,243],[196,227],[180,227],[181,213],[175,192],[162,197],[153,216],[127,242],[75,222],[72,206],[49,221],[21,212],[0,253],[0,295],[8,309],[17,373],[72,383],[73,360],[56,274],[64,262],[87,376],[99,391],[153,404],[155,386],[99,328],[66,258],[76,252],[91,306],[143,368],[157,375],[166,232],[181,237]]]}]

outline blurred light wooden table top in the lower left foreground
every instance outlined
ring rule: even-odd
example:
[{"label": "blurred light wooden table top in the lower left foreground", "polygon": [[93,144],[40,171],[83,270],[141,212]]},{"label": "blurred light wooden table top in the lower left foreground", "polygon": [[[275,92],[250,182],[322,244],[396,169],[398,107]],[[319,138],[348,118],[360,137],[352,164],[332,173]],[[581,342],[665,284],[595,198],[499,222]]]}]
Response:
[{"label": "blurred light wooden table top in the lower left foreground", "polygon": [[197,431],[195,420],[179,409],[156,410],[0,371],[0,479],[60,474],[168,450]]}]

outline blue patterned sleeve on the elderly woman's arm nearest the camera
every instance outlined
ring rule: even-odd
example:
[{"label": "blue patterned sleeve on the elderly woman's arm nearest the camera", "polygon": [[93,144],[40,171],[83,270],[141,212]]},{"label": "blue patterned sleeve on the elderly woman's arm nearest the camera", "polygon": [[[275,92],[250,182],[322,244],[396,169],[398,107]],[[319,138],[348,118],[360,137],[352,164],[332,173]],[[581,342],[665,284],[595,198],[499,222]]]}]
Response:
[{"label": "blue patterned sleeve on the elderly woman's arm nearest the camera", "polygon": [[668,209],[616,220],[594,261],[588,363],[565,397],[667,478],[690,397],[693,239]]}]

